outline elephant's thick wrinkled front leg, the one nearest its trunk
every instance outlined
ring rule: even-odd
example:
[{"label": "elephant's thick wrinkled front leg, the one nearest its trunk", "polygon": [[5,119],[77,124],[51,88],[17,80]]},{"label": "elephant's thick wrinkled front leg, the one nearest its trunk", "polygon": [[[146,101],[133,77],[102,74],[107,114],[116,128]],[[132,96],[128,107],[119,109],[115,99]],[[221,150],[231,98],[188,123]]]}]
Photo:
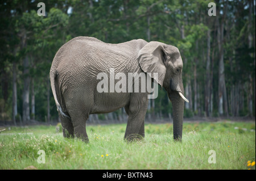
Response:
[{"label": "elephant's thick wrinkled front leg, the one nearest its trunk", "polygon": [[144,138],[144,118],[147,112],[147,104],[147,94],[131,94],[125,140],[132,141]]}]

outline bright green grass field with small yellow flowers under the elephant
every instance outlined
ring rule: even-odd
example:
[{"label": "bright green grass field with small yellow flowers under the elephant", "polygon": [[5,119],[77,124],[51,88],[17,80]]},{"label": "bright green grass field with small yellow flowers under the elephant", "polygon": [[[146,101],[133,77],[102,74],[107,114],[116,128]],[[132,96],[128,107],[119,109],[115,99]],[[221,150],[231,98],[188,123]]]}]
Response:
[{"label": "bright green grass field with small yellow flowers under the elephant", "polygon": [[126,124],[88,126],[89,144],[55,126],[5,129],[0,169],[255,169],[255,122],[184,123],[182,143],[172,124],[146,124],[144,140],[131,143],[123,141]]}]

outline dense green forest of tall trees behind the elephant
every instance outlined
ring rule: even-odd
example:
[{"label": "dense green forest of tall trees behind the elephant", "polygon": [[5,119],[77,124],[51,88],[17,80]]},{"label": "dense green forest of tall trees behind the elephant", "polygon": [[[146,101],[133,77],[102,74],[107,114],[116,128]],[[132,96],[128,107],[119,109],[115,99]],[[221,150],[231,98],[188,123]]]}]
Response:
[{"label": "dense green forest of tall trees behind the elephant", "polygon": [[[255,119],[254,0],[3,0],[0,123],[58,120],[49,69],[61,45],[77,36],[174,45],[183,58],[189,100],[184,117]],[[146,119],[170,119],[171,110],[166,91],[159,88]],[[122,121],[125,114],[122,108],[90,120]]]}]

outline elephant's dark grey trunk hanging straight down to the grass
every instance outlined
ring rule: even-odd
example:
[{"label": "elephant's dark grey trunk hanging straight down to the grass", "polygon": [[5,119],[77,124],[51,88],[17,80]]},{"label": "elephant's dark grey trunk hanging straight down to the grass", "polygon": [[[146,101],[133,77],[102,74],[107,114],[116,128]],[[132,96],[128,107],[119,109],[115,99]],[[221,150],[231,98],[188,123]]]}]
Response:
[{"label": "elephant's dark grey trunk hanging straight down to the grass", "polygon": [[172,111],[173,111],[173,119],[174,119],[174,140],[181,141],[182,127],[183,127],[184,100],[183,98],[181,98],[178,91],[171,91],[169,95],[170,95],[169,98],[172,102]]}]

